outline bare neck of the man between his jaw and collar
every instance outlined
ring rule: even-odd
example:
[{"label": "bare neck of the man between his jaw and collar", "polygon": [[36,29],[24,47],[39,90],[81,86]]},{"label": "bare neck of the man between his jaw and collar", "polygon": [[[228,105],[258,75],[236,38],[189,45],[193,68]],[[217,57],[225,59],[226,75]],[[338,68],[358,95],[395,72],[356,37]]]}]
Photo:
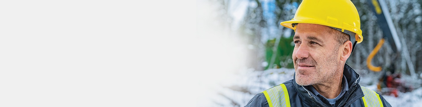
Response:
[{"label": "bare neck of the man between his jaw and collar", "polygon": [[331,82],[327,82],[324,84],[315,84],[312,85],[315,90],[319,92],[322,96],[327,99],[334,99],[341,93],[341,81],[343,76],[337,76],[333,78],[333,80],[327,80]]}]

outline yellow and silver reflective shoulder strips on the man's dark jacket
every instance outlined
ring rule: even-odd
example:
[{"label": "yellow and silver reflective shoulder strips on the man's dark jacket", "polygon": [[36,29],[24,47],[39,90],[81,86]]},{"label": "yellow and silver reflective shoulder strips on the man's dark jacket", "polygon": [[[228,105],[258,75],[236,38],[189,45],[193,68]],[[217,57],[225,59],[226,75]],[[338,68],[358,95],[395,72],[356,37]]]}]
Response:
[{"label": "yellow and silver reflective shoulder strips on the man's dark jacket", "polygon": [[[379,94],[371,89],[360,87],[365,96],[362,97],[365,107],[384,107]],[[290,99],[284,84],[262,91],[270,107],[290,107]]]}]

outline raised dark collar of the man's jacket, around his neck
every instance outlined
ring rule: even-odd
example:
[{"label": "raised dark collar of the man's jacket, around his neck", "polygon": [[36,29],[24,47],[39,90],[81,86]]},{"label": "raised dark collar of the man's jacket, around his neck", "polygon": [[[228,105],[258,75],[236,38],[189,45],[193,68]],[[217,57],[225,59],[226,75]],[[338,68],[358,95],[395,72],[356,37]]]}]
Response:
[{"label": "raised dark collar of the man's jacket, around his neck", "polygon": [[[296,75],[296,74],[295,74]],[[363,97],[362,89],[360,88],[360,75],[353,70],[348,64],[344,64],[343,75],[346,76],[347,85],[349,86],[348,91],[341,96],[341,99],[335,103],[335,106],[348,106],[352,104],[357,99]],[[315,96],[311,91],[306,89],[304,86],[300,86],[296,83],[296,78],[293,77],[293,82],[295,85],[296,90],[299,92],[299,95],[303,96],[305,103],[311,105],[319,105],[322,107],[329,106],[329,102],[327,99],[320,99],[319,97]]]}]

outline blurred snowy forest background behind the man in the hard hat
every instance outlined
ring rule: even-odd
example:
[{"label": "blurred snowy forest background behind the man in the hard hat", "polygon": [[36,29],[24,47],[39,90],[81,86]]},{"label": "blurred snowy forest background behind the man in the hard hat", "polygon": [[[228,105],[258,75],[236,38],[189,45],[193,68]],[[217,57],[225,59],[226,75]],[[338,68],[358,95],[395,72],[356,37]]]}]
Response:
[{"label": "blurred snowy forest background behind the man in the hard hat", "polygon": [[[292,29],[280,25],[291,20],[302,0],[198,0],[197,32],[215,43],[209,52],[221,56],[217,78],[202,78],[206,90],[198,95],[199,107],[243,107],[255,95],[293,78]],[[370,62],[367,58],[383,37],[368,0],[352,0],[360,15],[363,42],[347,60],[362,79],[362,86],[381,93],[393,107],[422,104],[422,0],[384,0],[397,31],[401,50],[393,52],[386,41]],[[384,12],[385,13],[385,12]],[[218,51],[218,52],[215,52]],[[219,57],[220,58],[220,57]],[[210,58],[208,58],[210,59]],[[217,61],[218,60],[218,61]],[[213,69],[214,70],[214,69]],[[211,71],[211,70],[210,70]],[[208,74],[200,76],[206,77]],[[380,80],[400,75],[398,94]],[[380,88],[381,87],[381,88]]]}]

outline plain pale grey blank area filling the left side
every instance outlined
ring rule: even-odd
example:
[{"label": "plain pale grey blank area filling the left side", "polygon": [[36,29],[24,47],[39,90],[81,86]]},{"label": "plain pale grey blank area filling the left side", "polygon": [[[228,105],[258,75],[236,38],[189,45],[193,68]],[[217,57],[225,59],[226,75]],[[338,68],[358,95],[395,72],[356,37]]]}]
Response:
[{"label": "plain pale grey blank area filling the left side", "polygon": [[195,23],[193,0],[2,1],[0,106],[193,106]]}]

